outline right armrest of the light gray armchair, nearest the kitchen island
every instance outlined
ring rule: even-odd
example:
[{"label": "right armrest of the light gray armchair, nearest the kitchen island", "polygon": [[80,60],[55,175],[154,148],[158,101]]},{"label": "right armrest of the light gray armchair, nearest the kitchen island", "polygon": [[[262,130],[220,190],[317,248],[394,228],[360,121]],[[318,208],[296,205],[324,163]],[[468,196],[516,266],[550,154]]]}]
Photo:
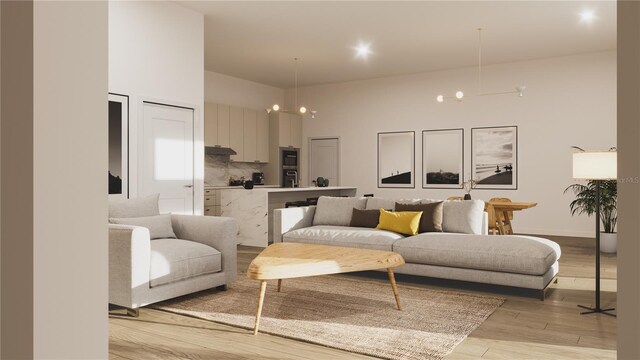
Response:
[{"label": "right armrest of the light gray armchair, nearest the kitchen island", "polygon": [[222,253],[222,271],[227,284],[238,272],[238,222],[229,217],[171,215],[173,231],[179,239],[209,245]]}]

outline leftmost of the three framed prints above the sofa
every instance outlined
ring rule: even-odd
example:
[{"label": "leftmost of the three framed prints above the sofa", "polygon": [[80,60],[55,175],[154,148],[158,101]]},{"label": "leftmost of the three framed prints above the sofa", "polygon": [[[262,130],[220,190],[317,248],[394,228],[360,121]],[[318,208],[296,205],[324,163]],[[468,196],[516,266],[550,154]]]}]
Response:
[{"label": "leftmost of the three framed prints above the sofa", "polygon": [[415,132],[378,133],[378,187],[415,188]]}]

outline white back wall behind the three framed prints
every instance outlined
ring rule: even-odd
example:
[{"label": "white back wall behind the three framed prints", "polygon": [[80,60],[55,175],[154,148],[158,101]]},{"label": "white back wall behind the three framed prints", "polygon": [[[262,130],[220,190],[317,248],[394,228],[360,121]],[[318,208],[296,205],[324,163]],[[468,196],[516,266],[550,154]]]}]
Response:
[{"label": "white back wall behind the three framed prints", "polygon": [[[526,85],[526,95],[475,97],[476,68],[456,69],[299,89],[299,103],[318,111],[303,122],[304,138],[341,138],[341,184],[359,194],[446,198],[462,190],[421,189],[421,131],[465,129],[465,177],[470,174],[471,128],[518,126],[518,190],[475,190],[472,197],[509,197],[538,206],[515,215],[522,233],[593,236],[594,220],[569,214],[571,145],[616,145],[616,52],[602,52],[483,67],[485,92]],[[462,89],[462,103],[438,104],[436,95]],[[291,103],[292,90],[286,91]],[[378,189],[377,133],[416,131],[416,189]],[[307,141],[302,152],[307,177]]]}]

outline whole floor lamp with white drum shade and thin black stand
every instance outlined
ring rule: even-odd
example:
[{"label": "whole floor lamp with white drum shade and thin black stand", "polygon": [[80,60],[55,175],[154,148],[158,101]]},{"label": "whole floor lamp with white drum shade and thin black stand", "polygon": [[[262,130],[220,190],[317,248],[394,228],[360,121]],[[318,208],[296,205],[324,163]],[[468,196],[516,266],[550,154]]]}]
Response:
[{"label": "whole floor lamp with white drum shade and thin black stand", "polygon": [[600,308],[600,185],[603,180],[617,177],[617,153],[615,151],[579,152],[573,154],[573,178],[576,180],[594,180],[596,184],[596,304],[594,307],[578,305],[587,311],[580,314],[602,313],[615,316]]}]

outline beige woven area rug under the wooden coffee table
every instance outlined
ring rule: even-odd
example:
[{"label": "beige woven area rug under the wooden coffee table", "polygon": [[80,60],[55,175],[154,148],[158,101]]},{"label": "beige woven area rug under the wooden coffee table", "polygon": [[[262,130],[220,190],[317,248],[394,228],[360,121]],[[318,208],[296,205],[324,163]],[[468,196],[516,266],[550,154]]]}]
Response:
[{"label": "beige woven area rug under the wooden coffee table", "polygon": [[[442,359],[504,299],[344,276],[269,282],[260,332],[383,359]],[[258,281],[238,276],[227,291],[204,291],[153,308],[252,329]],[[259,334],[257,336],[260,336]]]}]

